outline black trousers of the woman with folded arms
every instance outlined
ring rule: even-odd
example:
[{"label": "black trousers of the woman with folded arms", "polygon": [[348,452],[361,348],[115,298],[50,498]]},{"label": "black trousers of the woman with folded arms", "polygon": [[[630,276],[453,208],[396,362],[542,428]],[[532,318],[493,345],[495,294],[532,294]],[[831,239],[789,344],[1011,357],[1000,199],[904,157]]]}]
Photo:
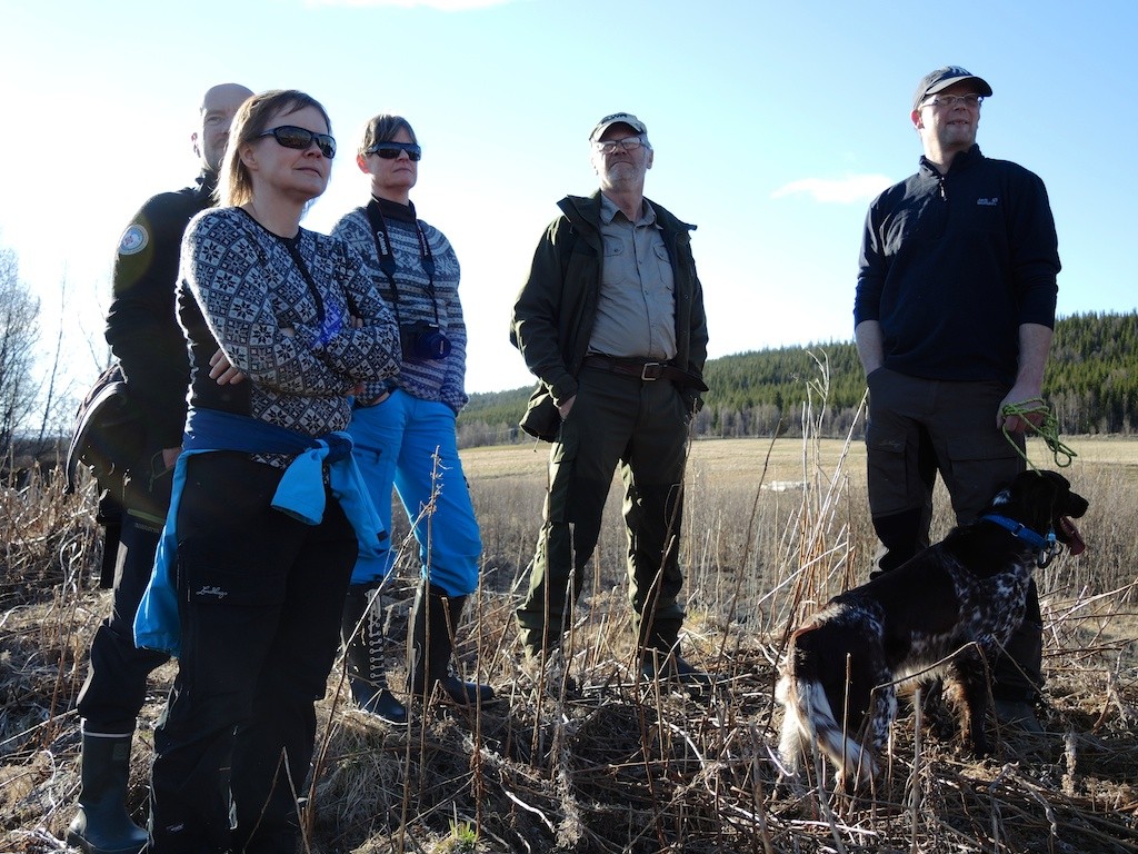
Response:
[{"label": "black trousers of the woman with folded arms", "polygon": [[280,477],[239,454],[189,460],[182,651],[155,731],[150,854],[295,849],[356,539],[331,495],[316,526],[273,510]]}]

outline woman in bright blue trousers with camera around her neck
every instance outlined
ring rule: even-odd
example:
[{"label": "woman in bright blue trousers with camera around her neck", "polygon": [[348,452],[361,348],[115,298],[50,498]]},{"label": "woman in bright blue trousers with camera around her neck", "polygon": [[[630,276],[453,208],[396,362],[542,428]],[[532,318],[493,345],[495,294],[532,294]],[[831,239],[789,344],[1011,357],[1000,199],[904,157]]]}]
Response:
[{"label": "woman in bright blue trousers with camera around her neck", "polygon": [[[455,436],[455,418],[468,400],[467,327],[454,249],[411,203],[421,156],[405,118],[369,121],[356,164],[369,178],[371,200],[332,228],[363,256],[398,322],[402,348],[398,376],[380,394],[356,397],[348,432],[385,528],[390,527],[394,485],[419,543],[422,581],[410,618],[409,691],[427,699],[438,684],[454,703],[476,705],[493,699],[494,691],[451,670],[454,632],[467,597],[478,586],[481,555]],[[406,708],[387,688],[379,602],[395,559],[394,547],[361,555],[341,631],[356,703],[388,723],[404,724]]]}]

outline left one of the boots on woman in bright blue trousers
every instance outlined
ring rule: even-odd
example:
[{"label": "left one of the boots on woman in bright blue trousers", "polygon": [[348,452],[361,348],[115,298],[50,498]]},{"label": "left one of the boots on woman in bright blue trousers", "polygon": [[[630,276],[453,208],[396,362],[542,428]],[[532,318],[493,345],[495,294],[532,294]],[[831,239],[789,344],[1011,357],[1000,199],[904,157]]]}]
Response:
[{"label": "left one of the boots on woman in bright blue trousers", "polygon": [[344,599],[340,640],[348,684],[356,705],[395,726],[405,726],[407,709],[387,690],[384,666],[384,614],[374,584],[353,584]]}]

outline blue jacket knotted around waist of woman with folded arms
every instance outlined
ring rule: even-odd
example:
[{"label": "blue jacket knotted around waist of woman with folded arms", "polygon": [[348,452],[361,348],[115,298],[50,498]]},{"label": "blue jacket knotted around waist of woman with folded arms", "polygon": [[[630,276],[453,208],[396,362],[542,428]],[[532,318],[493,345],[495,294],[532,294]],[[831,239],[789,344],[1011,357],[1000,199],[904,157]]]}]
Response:
[{"label": "blue jacket knotted around waist of woman with folded arms", "polygon": [[352,457],[348,434],[336,432],[314,438],[246,416],[191,409],[185,420],[182,453],[174,466],[170,512],[158,541],[154,570],[134,615],[134,643],[140,648],[158,649],[173,656],[179,652],[181,623],[173,567],[178,555],[175,522],[185,486],[185,461],[195,454],[215,451],[295,454],[273,494],[272,508],[306,525],[319,525],[324,518],[327,465],[328,486],[356,532],[360,555],[378,557],[379,544],[387,539]]}]

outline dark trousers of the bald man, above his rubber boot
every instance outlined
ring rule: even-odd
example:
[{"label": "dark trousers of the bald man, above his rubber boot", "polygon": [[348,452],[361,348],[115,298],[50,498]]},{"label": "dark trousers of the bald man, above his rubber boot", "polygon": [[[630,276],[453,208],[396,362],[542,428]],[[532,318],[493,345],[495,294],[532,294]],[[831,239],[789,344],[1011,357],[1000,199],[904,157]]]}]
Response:
[{"label": "dark trousers of the bald man, above his rubber boot", "polygon": [[170,658],[134,646],[134,613],[150,580],[160,533],[156,525],[123,514],[110,616],[94,634],[86,682],[79,693],[79,713],[86,732],[133,732],[146,701],[147,676]]}]

